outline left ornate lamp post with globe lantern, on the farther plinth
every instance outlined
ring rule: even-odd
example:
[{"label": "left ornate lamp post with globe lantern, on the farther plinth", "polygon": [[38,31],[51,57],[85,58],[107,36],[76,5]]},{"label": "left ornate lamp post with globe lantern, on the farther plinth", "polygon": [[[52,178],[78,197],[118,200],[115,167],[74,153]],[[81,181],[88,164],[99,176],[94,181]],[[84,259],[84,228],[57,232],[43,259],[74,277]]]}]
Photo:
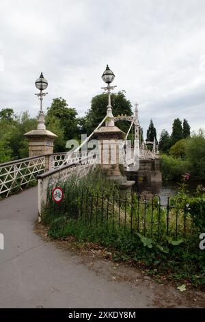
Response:
[{"label": "left ornate lamp post with globe lantern, on the farther plinth", "polygon": [[40,97],[39,98],[40,99],[40,112],[39,112],[37,129],[46,129],[45,121],[44,121],[44,112],[42,110],[42,100],[43,100],[43,97],[46,96],[46,94],[48,94],[48,93],[42,92],[42,91],[48,87],[48,82],[46,81],[46,79],[44,79],[44,75],[42,73],[40,74],[40,77],[38,79],[36,79],[35,85],[36,85],[36,88],[38,88],[38,90],[40,90],[40,93],[35,94],[38,97]]}]

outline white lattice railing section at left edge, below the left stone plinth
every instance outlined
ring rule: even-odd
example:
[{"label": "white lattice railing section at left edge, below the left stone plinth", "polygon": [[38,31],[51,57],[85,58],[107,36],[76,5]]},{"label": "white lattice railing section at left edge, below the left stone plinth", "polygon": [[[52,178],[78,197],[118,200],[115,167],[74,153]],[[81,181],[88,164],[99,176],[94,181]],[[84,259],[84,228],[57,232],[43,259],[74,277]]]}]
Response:
[{"label": "white lattice railing section at left edge, below the left stone plinth", "polygon": [[36,156],[0,164],[0,197],[23,190],[44,172],[45,156]]}]

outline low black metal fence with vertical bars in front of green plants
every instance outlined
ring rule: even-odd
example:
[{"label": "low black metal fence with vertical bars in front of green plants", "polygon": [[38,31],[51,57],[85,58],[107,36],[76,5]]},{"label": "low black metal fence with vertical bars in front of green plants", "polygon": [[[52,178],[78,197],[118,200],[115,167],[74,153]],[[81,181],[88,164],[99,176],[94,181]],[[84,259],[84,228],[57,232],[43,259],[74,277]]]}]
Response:
[{"label": "low black metal fence with vertical bars in front of green plants", "polygon": [[189,204],[185,199],[168,198],[161,204],[159,195],[148,197],[137,193],[113,192],[95,193],[94,189],[73,187],[61,203],[52,200],[49,188],[47,207],[55,214],[64,214],[75,219],[77,224],[92,228],[141,235],[154,240],[170,236],[174,240],[193,235],[193,225]]}]

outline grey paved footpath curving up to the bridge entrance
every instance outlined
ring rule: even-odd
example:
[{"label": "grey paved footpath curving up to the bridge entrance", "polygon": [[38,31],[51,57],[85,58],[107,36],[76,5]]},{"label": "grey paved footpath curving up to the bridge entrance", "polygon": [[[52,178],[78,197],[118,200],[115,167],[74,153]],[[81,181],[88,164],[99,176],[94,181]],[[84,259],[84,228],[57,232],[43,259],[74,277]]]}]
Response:
[{"label": "grey paved footpath curving up to the bridge entrance", "polygon": [[[37,188],[0,201],[0,308],[156,307],[147,284],[111,281],[33,232]],[[156,300],[156,299],[155,299]]]}]

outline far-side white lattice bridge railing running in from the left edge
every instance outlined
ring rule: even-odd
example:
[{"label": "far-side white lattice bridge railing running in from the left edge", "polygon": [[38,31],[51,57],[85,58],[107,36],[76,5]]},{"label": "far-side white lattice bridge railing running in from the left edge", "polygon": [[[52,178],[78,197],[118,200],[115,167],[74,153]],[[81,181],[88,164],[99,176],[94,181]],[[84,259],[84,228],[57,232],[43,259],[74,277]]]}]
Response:
[{"label": "far-side white lattice bridge railing running in from the left edge", "polygon": [[0,164],[0,198],[18,193],[31,184],[36,184],[36,177],[45,171],[59,169],[63,165],[97,163],[98,153],[62,152],[44,154]]}]

